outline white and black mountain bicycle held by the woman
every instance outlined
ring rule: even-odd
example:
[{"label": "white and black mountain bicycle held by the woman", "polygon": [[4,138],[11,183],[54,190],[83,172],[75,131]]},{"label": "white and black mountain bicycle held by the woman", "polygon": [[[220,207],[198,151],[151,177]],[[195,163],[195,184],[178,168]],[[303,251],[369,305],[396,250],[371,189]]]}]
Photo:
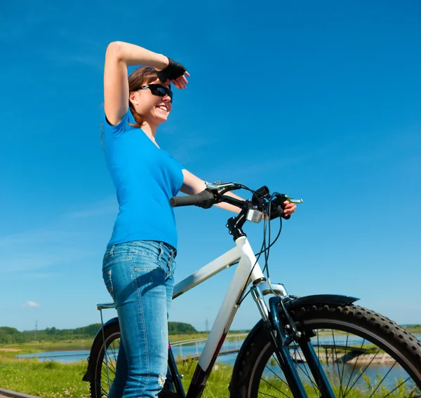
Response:
[{"label": "white and black mountain bicycle held by the woman", "polygon": [[[237,200],[225,195],[240,188],[253,193],[253,198]],[[283,284],[270,282],[267,259],[281,233],[284,200],[302,202],[279,193],[271,195],[265,186],[253,191],[242,184],[220,181],[206,183],[205,191],[196,195],[171,199],[173,207],[196,205],[208,209],[225,202],[241,209],[226,225],[235,247],[175,285],[173,299],[238,263],[187,394],[171,345],[168,347],[168,369],[175,392],[180,397],[202,396],[236,310],[250,294],[262,319],[250,331],[236,357],[227,390],[231,398],[421,397],[421,343],[408,331],[387,317],[354,305],[359,300],[356,297],[290,296]],[[279,233],[270,242],[270,220],[275,218],[281,221]],[[243,225],[262,219],[263,244],[260,252],[254,254]],[[265,254],[263,269],[258,263],[261,254]],[[265,301],[268,294],[269,305]],[[101,321],[102,309],[113,307],[114,304],[98,304]],[[102,325],[83,377],[91,383],[91,396],[95,398],[106,395],[112,382],[120,336],[116,317]],[[373,367],[379,376],[373,376]]]}]

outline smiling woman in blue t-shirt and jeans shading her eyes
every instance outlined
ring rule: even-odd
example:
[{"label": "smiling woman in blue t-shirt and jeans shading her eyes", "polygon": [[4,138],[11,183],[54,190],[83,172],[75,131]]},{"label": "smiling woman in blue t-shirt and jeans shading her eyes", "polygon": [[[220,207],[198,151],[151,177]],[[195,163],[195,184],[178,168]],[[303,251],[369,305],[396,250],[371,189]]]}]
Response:
[{"label": "smiling woman in blue t-shirt and jeans shading her eyes", "polygon": [[[128,76],[127,67],[138,64],[145,66]],[[119,214],[102,272],[121,328],[109,398],[156,398],[166,380],[167,320],[177,253],[169,200],[179,191],[199,193],[205,183],[159,148],[156,130],[172,109],[171,83],[186,88],[188,76],[178,62],[145,48],[122,42],[107,48],[105,158]],[[226,203],[218,207],[239,212]],[[294,210],[288,203],[286,214]]]}]

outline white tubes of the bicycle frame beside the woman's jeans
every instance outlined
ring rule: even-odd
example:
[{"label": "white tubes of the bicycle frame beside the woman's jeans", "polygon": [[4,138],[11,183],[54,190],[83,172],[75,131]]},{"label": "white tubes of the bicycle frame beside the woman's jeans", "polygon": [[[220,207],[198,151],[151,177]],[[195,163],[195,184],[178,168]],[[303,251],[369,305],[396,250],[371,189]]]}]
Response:
[{"label": "white tubes of the bicycle frame beside the woman's jeans", "polygon": [[[199,359],[199,366],[203,371],[208,369],[212,359],[215,355],[218,355],[220,346],[225,340],[225,336],[239,308],[238,303],[241,299],[241,294],[243,294],[243,291],[246,291],[245,287],[250,282],[264,278],[262,269],[255,258],[253,249],[251,249],[246,236],[237,238],[235,243],[236,247],[222,254],[217,259],[210,261],[206,266],[203,266],[189,277],[186,277],[174,287],[173,299],[201,284],[201,282],[208,280],[213,275],[220,273],[225,268],[229,268],[236,261],[239,261]],[[286,296],[286,291],[282,285],[273,285],[273,289],[276,289],[282,296]],[[273,289],[271,288],[270,291],[273,291]],[[263,311],[267,313],[266,306],[263,308]]]}]

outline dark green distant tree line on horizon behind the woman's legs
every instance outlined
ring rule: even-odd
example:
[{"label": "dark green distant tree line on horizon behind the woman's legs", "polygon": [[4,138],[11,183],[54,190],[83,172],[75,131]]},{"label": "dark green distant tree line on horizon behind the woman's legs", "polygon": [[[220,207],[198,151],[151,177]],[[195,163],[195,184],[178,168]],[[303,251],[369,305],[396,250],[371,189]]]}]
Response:
[{"label": "dark green distant tree line on horizon behind the woman's legs", "polygon": [[[18,331],[14,327],[0,327],[0,344],[27,343],[29,341],[66,341],[87,340],[94,338],[101,324],[90,324],[76,329],[56,329],[48,327],[44,330]],[[198,333],[191,324],[182,322],[168,322],[169,334]]]}]

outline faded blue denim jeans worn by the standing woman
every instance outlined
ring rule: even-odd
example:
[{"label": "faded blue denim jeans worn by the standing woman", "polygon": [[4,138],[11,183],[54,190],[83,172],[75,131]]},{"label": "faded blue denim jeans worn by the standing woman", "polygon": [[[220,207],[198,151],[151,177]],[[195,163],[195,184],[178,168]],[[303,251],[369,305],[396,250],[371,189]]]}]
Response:
[{"label": "faded blue denim jeans worn by the standing woman", "polygon": [[156,398],[166,380],[168,310],[176,250],[137,240],[107,247],[102,275],[119,315],[121,339],[109,398]]}]

